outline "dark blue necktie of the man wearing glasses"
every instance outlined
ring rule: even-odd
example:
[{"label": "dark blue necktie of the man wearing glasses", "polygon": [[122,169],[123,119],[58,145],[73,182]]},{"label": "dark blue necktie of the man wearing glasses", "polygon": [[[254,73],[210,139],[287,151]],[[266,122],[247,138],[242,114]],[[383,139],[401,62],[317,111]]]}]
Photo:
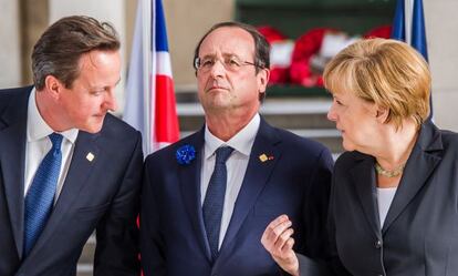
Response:
[{"label": "dark blue necktie of the man wearing glasses", "polygon": [[226,161],[233,149],[222,146],[216,151],[215,170],[208,184],[204,201],[204,224],[207,231],[208,244],[210,245],[211,258],[218,256],[219,231],[221,228],[222,207],[225,205],[227,170]]}]

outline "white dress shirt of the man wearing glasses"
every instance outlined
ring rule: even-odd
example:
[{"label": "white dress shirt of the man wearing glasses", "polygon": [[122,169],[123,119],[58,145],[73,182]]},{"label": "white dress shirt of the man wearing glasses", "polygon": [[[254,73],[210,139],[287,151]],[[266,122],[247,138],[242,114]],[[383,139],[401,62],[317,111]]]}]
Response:
[{"label": "white dress shirt of the man wearing glasses", "polygon": [[230,218],[232,216],[233,207],[236,204],[237,196],[243,182],[244,173],[247,171],[248,161],[250,159],[251,147],[254,143],[254,137],[259,130],[260,116],[256,114],[251,121],[239,131],[228,142],[223,142],[216,137],[205,127],[205,146],[204,146],[204,160],[201,170],[201,182],[200,182],[200,200],[204,205],[205,195],[210,182],[211,174],[215,168],[215,151],[220,146],[230,146],[233,149],[232,154],[226,162],[227,167],[227,186],[225,195],[225,205],[222,207],[221,228],[219,232],[219,245],[221,247],[226,232],[229,226]]}]

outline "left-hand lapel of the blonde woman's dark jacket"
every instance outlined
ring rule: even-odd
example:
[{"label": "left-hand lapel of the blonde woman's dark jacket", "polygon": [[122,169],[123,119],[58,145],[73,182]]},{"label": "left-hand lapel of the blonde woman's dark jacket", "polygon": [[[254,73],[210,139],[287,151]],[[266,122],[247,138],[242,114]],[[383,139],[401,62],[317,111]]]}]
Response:
[{"label": "left-hand lapel of the blonde woman's dark jacket", "polygon": [[357,196],[363,207],[367,222],[377,237],[381,236],[378,208],[376,206],[374,160],[365,156],[352,170],[351,175]]}]

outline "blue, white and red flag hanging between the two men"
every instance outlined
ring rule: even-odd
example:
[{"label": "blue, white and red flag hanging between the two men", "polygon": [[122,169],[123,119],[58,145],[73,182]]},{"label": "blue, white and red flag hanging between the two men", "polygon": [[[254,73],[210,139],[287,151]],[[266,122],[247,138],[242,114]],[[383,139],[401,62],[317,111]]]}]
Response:
[{"label": "blue, white and red flag hanging between the two men", "polygon": [[162,0],[138,1],[123,119],[142,132],[145,155],[179,139]]}]

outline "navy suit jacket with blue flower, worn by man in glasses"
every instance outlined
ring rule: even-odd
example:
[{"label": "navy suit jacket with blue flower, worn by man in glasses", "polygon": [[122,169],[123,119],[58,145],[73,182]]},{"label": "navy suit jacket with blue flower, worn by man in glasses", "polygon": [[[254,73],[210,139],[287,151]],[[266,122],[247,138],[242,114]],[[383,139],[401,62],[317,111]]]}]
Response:
[{"label": "navy suit jacket with blue flower, worn by man in glasses", "polygon": [[[196,149],[189,165],[178,164],[183,145]],[[323,145],[274,129],[261,120],[233,214],[212,263],[200,201],[204,130],[148,156],[140,215],[145,276],[279,275],[261,245],[267,225],[288,214],[298,231],[296,249],[323,256],[324,226],[333,161]],[[261,162],[261,154],[273,160]]]}]

